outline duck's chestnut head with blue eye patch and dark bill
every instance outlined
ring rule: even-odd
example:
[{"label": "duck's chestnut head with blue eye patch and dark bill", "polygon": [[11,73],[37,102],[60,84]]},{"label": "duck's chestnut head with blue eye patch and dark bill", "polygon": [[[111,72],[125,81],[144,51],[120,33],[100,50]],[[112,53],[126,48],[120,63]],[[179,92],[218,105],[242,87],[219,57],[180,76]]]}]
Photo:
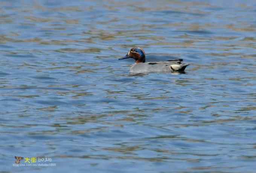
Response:
[{"label": "duck's chestnut head with blue eye patch and dark bill", "polygon": [[145,62],[146,57],[145,57],[144,50],[138,47],[138,48],[130,49],[127,55],[125,55],[123,58],[119,58],[119,60],[127,59],[127,58],[133,58],[135,59],[136,63],[140,63],[140,62]]}]

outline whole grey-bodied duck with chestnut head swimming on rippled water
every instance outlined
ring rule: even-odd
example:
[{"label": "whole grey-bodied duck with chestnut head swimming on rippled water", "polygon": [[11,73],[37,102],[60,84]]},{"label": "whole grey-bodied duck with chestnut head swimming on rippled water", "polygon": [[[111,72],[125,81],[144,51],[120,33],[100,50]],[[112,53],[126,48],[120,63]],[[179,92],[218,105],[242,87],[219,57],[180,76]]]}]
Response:
[{"label": "whole grey-bodied duck with chestnut head swimming on rippled water", "polygon": [[135,64],[131,66],[131,73],[150,73],[150,72],[183,72],[189,64],[184,64],[183,59],[174,59],[160,62],[145,62],[146,55],[141,48],[132,48],[121,59],[133,58]]}]

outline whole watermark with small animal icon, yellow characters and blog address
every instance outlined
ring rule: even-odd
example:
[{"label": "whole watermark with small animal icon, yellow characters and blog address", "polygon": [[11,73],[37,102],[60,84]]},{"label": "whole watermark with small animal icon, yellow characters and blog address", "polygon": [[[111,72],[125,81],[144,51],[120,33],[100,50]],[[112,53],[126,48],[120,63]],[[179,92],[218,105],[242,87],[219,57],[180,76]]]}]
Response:
[{"label": "whole watermark with small animal icon, yellow characters and blog address", "polygon": [[[21,157],[15,156],[15,163],[13,166],[56,166],[56,163],[52,162],[52,158],[50,157]],[[21,160],[24,159],[24,163]]]}]

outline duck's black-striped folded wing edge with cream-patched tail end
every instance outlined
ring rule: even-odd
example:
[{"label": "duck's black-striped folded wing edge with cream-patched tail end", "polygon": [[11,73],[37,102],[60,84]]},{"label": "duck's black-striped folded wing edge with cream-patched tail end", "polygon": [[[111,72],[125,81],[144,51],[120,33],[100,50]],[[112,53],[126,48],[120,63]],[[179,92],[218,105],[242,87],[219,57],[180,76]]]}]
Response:
[{"label": "duck's black-striped folded wing edge with cream-patched tail end", "polygon": [[148,62],[148,64],[164,64],[166,66],[169,66],[169,68],[172,71],[184,71],[185,68],[189,64],[184,64],[183,59],[174,59],[174,60],[168,60],[168,61],[160,61],[160,62]]}]

